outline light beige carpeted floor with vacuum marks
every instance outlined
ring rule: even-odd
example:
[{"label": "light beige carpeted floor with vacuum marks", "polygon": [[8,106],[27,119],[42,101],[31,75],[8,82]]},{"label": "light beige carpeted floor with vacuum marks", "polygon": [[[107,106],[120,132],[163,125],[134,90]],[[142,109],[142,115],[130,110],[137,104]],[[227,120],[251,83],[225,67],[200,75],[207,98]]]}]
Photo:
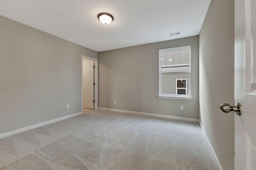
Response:
[{"label": "light beige carpeted floor with vacuum marks", "polygon": [[198,123],[102,110],[0,139],[0,170],[218,170]]}]

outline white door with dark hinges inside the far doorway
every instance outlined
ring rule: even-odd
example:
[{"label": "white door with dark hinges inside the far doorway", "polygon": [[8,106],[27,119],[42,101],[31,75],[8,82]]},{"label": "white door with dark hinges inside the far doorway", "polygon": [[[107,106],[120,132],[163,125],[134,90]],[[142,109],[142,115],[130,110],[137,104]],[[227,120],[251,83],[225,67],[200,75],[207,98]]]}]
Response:
[{"label": "white door with dark hinges inside the far doorway", "polygon": [[94,109],[94,61],[83,62],[83,108]]}]

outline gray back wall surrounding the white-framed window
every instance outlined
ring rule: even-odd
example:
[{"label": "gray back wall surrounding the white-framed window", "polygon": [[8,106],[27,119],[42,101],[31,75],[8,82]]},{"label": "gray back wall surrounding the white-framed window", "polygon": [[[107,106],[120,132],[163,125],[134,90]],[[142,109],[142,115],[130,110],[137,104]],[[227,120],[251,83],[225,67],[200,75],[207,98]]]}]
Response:
[{"label": "gray back wall surrounding the white-framed window", "polygon": [[[99,107],[198,119],[198,40],[194,36],[98,53]],[[193,99],[158,98],[158,50],[188,45]]]}]

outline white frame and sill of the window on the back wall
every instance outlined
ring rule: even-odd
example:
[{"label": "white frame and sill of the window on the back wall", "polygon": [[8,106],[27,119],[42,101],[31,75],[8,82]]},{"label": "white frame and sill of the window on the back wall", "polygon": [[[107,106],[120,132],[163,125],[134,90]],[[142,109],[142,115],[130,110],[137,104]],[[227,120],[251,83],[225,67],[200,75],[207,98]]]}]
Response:
[{"label": "white frame and sill of the window on the back wall", "polygon": [[[189,82],[189,87],[186,86],[186,88],[189,89],[188,94],[187,94],[187,90],[186,90],[186,95],[183,94],[177,94],[177,82],[176,82],[176,94],[162,94],[162,65],[161,65],[161,53],[162,52],[168,52],[168,51],[177,51],[177,50],[184,50],[184,49],[189,49],[189,70],[175,70],[175,71],[170,71],[171,73],[188,73],[188,80],[186,80],[186,83]],[[170,49],[160,49],[159,50],[159,57],[158,57],[158,61],[159,61],[159,93],[158,93],[158,98],[164,98],[164,99],[182,99],[182,100],[191,100],[192,96],[191,96],[191,46],[185,46],[185,47],[176,47],[176,48],[170,48]],[[184,79],[182,79],[184,80]],[[176,80],[177,81],[177,80]]]}]

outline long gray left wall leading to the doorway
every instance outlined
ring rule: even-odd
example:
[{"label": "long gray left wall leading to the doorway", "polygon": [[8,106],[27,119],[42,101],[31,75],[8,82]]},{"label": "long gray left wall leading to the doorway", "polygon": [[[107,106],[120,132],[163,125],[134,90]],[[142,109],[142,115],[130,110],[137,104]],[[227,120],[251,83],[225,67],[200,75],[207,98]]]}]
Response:
[{"label": "long gray left wall leading to the doorway", "polygon": [[0,134],[81,112],[82,55],[98,58],[0,16]]}]

